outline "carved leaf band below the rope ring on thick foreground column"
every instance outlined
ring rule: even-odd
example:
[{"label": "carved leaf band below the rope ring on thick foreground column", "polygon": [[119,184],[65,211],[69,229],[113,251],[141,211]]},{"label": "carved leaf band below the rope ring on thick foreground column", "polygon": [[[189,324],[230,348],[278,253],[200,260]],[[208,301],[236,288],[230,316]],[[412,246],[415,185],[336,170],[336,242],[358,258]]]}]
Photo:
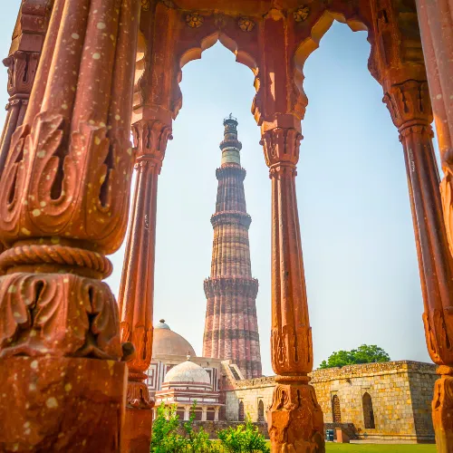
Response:
[{"label": "carved leaf band below the rope ring on thick foreground column", "polygon": [[0,277],[0,357],[120,360],[118,308],[107,284],[71,274]]}]

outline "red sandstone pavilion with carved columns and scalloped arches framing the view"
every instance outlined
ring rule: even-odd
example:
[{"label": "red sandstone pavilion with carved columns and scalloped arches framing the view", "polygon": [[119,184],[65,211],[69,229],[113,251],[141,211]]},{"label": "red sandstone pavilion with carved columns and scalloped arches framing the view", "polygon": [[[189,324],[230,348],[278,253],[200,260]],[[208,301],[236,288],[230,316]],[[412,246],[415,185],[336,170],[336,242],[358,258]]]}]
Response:
[{"label": "red sandstone pavilion with carved columns and scalloped arches framing the view", "polygon": [[[182,104],[181,69],[220,41],[255,74],[252,112],[272,185],[272,447],[324,451],[323,410],[308,376],[312,334],[295,175],[308,101],[304,62],[334,20],[368,32],[371,74],[400,134],[427,345],[439,365],[436,441],[440,452],[453,449],[449,0],[23,0],[14,43],[24,43],[26,56],[34,53],[40,63],[22,125],[18,107],[2,138],[0,448],[118,451],[122,443],[149,450],[145,371],[159,172]],[[14,64],[16,50],[20,45],[9,55]],[[10,66],[10,84],[31,84],[24,67],[32,66]],[[29,88],[18,90],[27,95]],[[111,272],[106,255],[126,233],[134,164],[118,313],[102,279]]]}]

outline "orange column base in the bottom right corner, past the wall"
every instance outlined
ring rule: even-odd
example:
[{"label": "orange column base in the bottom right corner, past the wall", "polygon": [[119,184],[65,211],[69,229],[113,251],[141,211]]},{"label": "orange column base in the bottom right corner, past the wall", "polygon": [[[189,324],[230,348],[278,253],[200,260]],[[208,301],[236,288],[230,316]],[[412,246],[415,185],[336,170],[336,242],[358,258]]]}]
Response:
[{"label": "orange column base in the bottom right corner, past the wall", "polygon": [[[438,372],[448,367],[439,367]],[[451,372],[452,370],[447,370]],[[434,384],[432,423],[438,453],[453,451],[453,376],[442,374]]]}]

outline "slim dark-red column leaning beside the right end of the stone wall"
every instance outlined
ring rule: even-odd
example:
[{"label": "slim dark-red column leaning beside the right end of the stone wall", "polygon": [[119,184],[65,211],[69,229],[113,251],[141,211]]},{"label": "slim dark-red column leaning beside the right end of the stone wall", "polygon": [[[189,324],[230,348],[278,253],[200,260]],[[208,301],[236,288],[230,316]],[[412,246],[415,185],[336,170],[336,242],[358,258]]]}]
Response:
[{"label": "slim dark-red column leaning beside the right end of the stone wall", "polygon": [[[442,216],[439,170],[432,145],[432,112],[428,82],[393,84],[384,101],[400,131],[404,149],[410,206],[414,223],[419,273],[425,305],[423,322],[429,355],[439,365],[453,365],[453,260]],[[433,422],[438,451],[453,449],[453,378],[440,366],[436,382]]]}]

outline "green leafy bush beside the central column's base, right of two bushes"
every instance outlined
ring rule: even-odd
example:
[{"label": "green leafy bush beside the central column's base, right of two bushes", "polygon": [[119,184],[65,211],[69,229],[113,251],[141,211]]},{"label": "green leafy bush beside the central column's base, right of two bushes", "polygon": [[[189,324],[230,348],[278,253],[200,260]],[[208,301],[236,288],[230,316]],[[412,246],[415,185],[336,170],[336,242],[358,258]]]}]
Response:
[{"label": "green leafy bush beside the central column's base, right of two bushes", "polygon": [[217,432],[222,446],[230,453],[270,453],[265,437],[246,418],[246,425],[238,425],[236,428],[229,427]]}]

